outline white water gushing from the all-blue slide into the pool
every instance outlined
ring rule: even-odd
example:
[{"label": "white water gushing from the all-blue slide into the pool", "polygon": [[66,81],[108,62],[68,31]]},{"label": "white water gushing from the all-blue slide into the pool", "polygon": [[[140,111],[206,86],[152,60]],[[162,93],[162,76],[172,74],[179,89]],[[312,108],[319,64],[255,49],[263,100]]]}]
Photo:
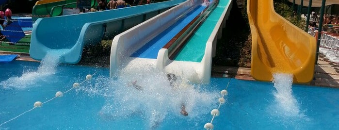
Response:
[{"label": "white water gushing from the all-blue slide into the pool", "polygon": [[63,50],[49,51],[42,59],[36,71],[25,70],[20,77],[11,77],[6,81],[1,81],[0,85],[4,88],[26,88],[31,86],[37,81],[41,81],[46,76],[55,74],[55,68],[59,64],[61,55],[64,54]]}]

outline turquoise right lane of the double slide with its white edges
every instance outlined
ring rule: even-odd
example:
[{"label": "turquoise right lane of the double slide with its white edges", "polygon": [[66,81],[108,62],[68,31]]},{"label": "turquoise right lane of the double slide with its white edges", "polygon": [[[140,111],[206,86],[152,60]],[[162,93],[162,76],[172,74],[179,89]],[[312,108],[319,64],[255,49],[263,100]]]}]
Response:
[{"label": "turquoise right lane of the double slide with its white edges", "polygon": [[193,33],[183,33],[190,35],[189,38],[178,41],[178,43],[183,42],[183,46],[172,47],[177,48],[172,50],[178,51],[175,56],[171,56],[171,47],[166,48],[164,46],[159,50],[157,58],[159,68],[180,75],[191,82],[210,82],[216,41],[221,38],[222,31],[226,27],[226,19],[228,19],[232,8],[232,0],[211,0],[211,2],[217,3],[216,7],[198,24]]}]

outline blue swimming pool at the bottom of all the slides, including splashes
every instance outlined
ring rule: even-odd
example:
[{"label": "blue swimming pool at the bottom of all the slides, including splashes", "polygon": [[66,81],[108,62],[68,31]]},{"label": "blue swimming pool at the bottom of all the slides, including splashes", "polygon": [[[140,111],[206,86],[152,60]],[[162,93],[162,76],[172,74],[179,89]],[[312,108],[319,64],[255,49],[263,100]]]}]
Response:
[{"label": "blue swimming pool at the bottom of all the slides, including splashes", "polygon": [[[109,68],[43,63],[0,64],[0,129],[202,130],[229,81],[211,78],[209,85],[192,84],[181,92],[173,91],[152,66],[110,79]],[[93,79],[85,80],[87,74]],[[144,90],[130,87],[131,81]],[[75,82],[81,85],[22,114],[34,102],[45,102]],[[339,89],[293,85],[293,105],[288,100],[279,103],[272,82],[230,79],[227,91],[220,116],[213,120],[214,130],[339,129]],[[182,102],[188,116],[179,114]]]}]

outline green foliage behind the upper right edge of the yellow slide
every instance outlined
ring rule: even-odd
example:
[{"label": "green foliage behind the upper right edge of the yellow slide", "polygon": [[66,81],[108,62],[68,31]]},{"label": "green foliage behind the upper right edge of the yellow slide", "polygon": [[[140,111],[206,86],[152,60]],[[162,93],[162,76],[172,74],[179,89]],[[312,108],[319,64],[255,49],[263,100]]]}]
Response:
[{"label": "green foliage behind the upper right edge of the yellow slide", "polygon": [[298,18],[297,13],[288,5],[287,0],[274,0],[274,10],[300,29],[304,30],[306,27],[306,21]]}]

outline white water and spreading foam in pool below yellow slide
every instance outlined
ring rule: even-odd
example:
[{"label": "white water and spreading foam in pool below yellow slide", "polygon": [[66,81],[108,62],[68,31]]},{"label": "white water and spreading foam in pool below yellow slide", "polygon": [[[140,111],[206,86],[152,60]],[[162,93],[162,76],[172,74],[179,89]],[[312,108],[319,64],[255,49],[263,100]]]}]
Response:
[{"label": "white water and spreading foam in pool below yellow slide", "polygon": [[307,110],[300,109],[297,99],[293,96],[293,75],[274,73],[273,78],[275,101],[267,108],[267,112],[272,115],[270,119],[285,129],[300,130],[307,127],[304,123],[310,122],[311,119],[305,115]]}]

